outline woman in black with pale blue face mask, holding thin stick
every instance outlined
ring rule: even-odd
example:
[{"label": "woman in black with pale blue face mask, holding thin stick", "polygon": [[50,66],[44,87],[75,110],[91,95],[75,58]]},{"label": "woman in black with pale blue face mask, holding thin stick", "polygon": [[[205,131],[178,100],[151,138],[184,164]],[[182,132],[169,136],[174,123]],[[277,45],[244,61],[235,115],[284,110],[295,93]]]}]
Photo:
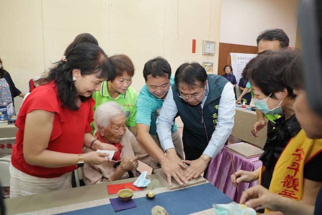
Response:
[{"label": "woman in black with pale blue face mask, holding thin stick", "polygon": [[[260,156],[262,167],[255,171],[238,170],[233,184],[251,182],[259,178],[259,183],[269,188],[276,161],[286,144],[299,132],[293,103],[295,96],[283,82],[283,73],[297,55],[295,50],[265,51],[249,61],[247,76],[254,92],[254,104],[264,114],[279,114],[272,124],[274,129],[267,133],[264,152]],[[272,122],[269,122],[272,123]]]}]

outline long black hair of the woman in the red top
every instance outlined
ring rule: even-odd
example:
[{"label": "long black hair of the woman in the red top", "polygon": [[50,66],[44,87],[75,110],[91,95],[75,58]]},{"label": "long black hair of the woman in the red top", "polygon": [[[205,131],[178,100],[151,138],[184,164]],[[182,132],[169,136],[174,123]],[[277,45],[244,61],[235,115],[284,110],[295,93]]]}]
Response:
[{"label": "long black hair of the woman in the red top", "polygon": [[[82,76],[95,74],[99,79],[108,79],[113,73],[113,67],[104,51],[92,43],[82,43],[74,47],[69,51],[66,59],[67,61],[56,62],[40,84],[54,81],[61,106],[69,110],[78,110],[76,106],[77,92],[72,80],[72,70],[79,69]],[[80,96],[80,101],[85,102],[90,98]]]}]

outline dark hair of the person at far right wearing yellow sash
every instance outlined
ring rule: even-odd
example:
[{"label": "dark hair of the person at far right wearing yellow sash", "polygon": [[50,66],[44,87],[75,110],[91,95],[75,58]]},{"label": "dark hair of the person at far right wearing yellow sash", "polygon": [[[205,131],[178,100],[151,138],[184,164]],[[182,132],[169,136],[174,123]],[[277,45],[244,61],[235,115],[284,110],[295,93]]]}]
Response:
[{"label": "dark hair of the person at far right wearing yellow sash", "polygon": [[302,60],[299,55],[290,63],[284,72],[283,81],[290,88],[295,90],[304,89]]}]

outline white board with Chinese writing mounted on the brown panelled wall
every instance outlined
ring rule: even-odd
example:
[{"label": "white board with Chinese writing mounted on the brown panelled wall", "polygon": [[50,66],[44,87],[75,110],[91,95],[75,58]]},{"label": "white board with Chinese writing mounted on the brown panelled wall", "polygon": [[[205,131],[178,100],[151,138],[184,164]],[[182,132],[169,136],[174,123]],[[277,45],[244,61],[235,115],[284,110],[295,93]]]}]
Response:
[{"label": "white board with Chinese writing mounted on the brown panelled wall", "polygon": [[246,64],[256,56],[257,54],[230,53],[232,73],[236,77],[237,85],[241,78],[242,70],[245,68]]}]

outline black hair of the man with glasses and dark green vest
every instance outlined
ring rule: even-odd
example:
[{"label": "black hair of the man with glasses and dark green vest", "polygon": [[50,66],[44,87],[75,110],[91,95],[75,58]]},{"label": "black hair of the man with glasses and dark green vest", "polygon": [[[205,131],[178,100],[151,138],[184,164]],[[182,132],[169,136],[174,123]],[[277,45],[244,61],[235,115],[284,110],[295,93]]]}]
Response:
[{"label": "black hair of the man with glasses and dark green vest", "polygon": [[203,87],[207,80],[205,69],[198,63],[184,63],[179,66],[174,75],[174,82],[177,87],[179,84],[185,84],[188,89],[194,87]]}]

